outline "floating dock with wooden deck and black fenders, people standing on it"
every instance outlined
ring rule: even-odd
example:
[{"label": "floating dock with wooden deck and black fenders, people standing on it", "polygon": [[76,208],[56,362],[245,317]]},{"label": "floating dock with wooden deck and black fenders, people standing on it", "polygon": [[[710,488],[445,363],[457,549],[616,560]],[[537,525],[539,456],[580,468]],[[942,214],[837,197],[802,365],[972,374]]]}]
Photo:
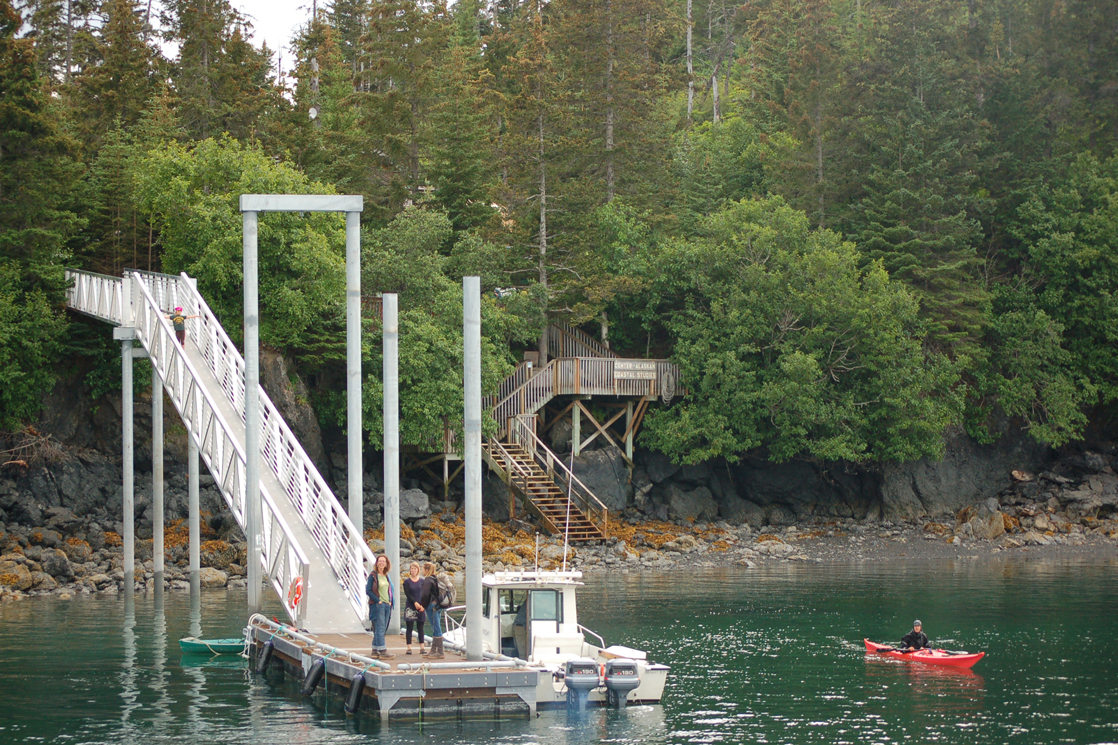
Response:
[{"label": "floating dock with wooden deck and black fenders, people standing on it", "polygon": [[[256,616],[257,619],[259,616]],[[386,638],[394,660],[383,660],[386,670],[369,666],[366,660],[372,647],[370,633],[323,633],[299,631],[290,626],[276,628],[256,622],[249,624],[250,657],[255,669],[264,643],[273,643],[272,662],[283,664],[284,672],[302,679],[318,659],[325,658],[325,690],[328,695],[349,696],[356,676],[364,678],[361,709],[377,710],[383,720],[394,717],[456,717],[456,716],[524,716],[536,713],[536,690],[539,676],[547,675],[538,668],[501,667],[485,669],[400,670],[400,664],[423,666],[418,644],[411,654],[405,654],[407,644],[401,635]],[[466,663],[465,656],[446,650],[442,660],[430,662]]]}]

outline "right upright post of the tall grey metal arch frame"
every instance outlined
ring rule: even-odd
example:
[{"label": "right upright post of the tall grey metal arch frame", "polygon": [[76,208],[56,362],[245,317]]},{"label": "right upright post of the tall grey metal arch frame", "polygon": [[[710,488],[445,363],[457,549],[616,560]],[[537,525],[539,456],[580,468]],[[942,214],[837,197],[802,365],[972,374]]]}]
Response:
[{"label": "right upright post of the tall grey metal arch frame", "polygon": [[[345,213],[345,430],[350,521],[363,535],[361,475],[361,213]],[[396,562],[392,562],[396,566]],[[399,585],[397,585],[399,587]]]}]

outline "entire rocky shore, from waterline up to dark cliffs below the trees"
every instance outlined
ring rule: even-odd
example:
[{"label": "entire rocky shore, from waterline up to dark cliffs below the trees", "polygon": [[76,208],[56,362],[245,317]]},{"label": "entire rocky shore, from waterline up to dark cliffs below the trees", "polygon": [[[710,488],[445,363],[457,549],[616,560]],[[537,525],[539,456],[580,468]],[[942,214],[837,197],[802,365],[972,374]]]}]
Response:
[{"label": "entire rocky shore, from waterline up to dark cliffs below the trees", "polygon": [[[877,503],[866,502],[864,509],[845,515],[834,509],[844,504],[841,501],[798,497],[813,489],[818,493],[815,482],[792,479],[780,484],[790,497],[761,506],[738,496],[735,482],[717,468],[680,469],[646,459],[628,484],[631,494],[615,494],[608,539],[572,546],[567,554],[568,566],[591,573],[682,567],[747,569],[786,562],[995,554],[1118,558],[1118,461],[1114,447],[1100,450],[1109,454],[1073,452],[1048,460],[1036,472],[1006,468],[999,480],[987,474],[982,489],[969,484],[963,490],[970,496],[969,501],[956,493],[938,508],[927,501],[909,500],[904,502],[908,507],[900,510],[890,508],[882,497]],[[608,452],[596,452],[608,460]],[[343,465],[344,461],[333,459],[332,475],[341,483]],[[949,468],[951,473],[961,472],[956,465]],[[984,468],[993,473],[988,464]],[[190,587],[186,473],[181,464],[172,462],[165,470],[163,581],[168,590],[184,591]],[[367,474],[364,509],[366,525],[373,527],[366,531],[366,538],[376,553],[383,545],[383,498],[375,488],[375,477]],[[203,475],[200,481],[201,585],[244,587],[246,551],[240,530],[212,479]],[[913,483],[918,481],[913,477]],[[749,482],[738,479],[736,483],[743,487]],[[445,570],[459,573],[465,566],[461,501],[453,492],[449,501],[437,501],[428,496],[434,490],[418,489],[423,484],[417,482],[408,485],[400,494],[404,563],[432,560]],[[521,519],[509,519],[503,484],[486,484],[485,491],[485,570],[533,567],[537,535],[543,531],[524,521],[523,515]],[[607,491],[604,487],[603,493]],[[929,489],[920,487],[917,491],[928,493]],[[765,501],[757,497],[760,493],[750,487],[747,496]],[[344,494],[339,497],[344,504]],[[135,586],[153,590],[150,474],[136,474],[135,503]],[[849,502],[845,504],[849,507]],[[95,451],[32,469],[15,480],[0,477],[0,600],[121,592],[124,572],[120,520],[117,469]],[[541,568],[561,566],[561,536],[539,535],[538,556]]]}]

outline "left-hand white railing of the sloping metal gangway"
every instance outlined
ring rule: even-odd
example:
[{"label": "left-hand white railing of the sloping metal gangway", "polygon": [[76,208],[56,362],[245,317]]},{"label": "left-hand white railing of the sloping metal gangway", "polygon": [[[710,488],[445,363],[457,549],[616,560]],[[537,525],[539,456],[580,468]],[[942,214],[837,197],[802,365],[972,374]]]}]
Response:
[{"label": "left-hand white railing of the sloping metal gangway", "polygon": [[[163,387],[187,425],[189,435],[198,444],[199,455],[214,475],[229,510],[244,528],[245,452],[233,436],[229,423],[221,415],[212,393],[201,385],[198,370],[182,353],[170,320],[144,279],[139,273],[133,273],[124,281],[132,282],[132,322],[136,338],[148,350],[151,364],[159,371]],[[310,587],[304,583],[302,600],[296,604],[292,604],[287,588],[296,578],[309,576],[310,559],[263,483],[260,507],[260,565],[287,615],[296,625],[303,625]]]}]

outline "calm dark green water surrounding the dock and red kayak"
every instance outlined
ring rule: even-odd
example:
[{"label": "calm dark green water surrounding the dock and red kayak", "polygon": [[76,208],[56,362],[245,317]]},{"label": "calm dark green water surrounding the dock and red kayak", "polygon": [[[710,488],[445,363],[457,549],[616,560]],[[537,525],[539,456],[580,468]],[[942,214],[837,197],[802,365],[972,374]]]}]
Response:
[{"label": "calm dark green water surrounding the dock and red kayak", "polygon": [[[1116,591],[1118,562],[591,576],[582,623],[672,666],[662,706],[421,727],[184,659],[184,593],[22,601],[0,605],[0,744],[1116,743]],[[203,593],[205,635],[238,635],[244,602]],[[863,636],[917,616],[986,659],[966,673],[866,657]]]}]

